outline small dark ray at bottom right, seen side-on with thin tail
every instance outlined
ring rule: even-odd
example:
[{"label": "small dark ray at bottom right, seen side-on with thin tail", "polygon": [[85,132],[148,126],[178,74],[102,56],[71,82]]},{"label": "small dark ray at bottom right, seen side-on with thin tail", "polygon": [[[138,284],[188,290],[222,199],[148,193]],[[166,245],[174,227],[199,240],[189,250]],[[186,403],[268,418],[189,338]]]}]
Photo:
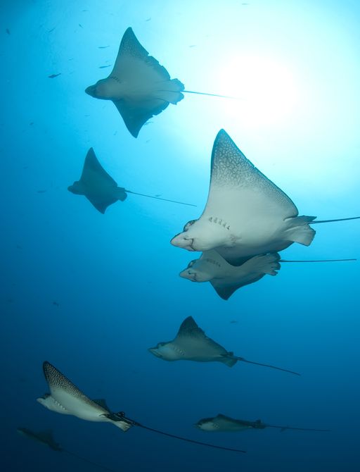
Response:
[{"label": "small dark ray at bottom right, seen side-on with thin tail", "polygon": [[263,423],[261,420],[256,421],[245,421],[245,420],[236,420],[230,418],[229,416],[218,414],[214,418],[203,418],[195,423],[196,428],[199,428],[203,431],[243,431],[248,429],[265,429],[265,428],[278,428],[281,431],[285,430],[297,430],[297,431],[330,431],[323,429],[314,429],[314,428],[293,428],[293,426],[276,426]]}]

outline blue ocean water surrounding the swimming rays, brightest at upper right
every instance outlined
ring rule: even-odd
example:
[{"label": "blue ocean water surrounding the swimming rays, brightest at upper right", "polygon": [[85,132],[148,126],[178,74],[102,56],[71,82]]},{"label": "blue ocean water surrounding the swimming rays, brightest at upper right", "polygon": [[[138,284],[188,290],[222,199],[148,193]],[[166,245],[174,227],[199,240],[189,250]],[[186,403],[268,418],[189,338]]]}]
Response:
[{"label": "blue ocean water surrounding the swimming rays, brightest at upper right", "polygon": [[[4,0],[0,23],[1,469],[100,470],[21,426],[114,471],[358,471],[359,261],[283,263],[224,301],[179,278],[194,255],[169,244],[203,211],[221,128],[300,214],[359,216],[357,2]],[[240,99],[186,95],[134,139],[110,101],[84,93],[129,26],[186,89]],[[102,215],[67,190],[89,147],[118,185],[197,207],[129,194]],[[359,221],[314,229],[281,256],[359,259]],[[237,355],[302,376],[152,356],[187,316]],[[247,453],[46,410],[45,360],[113,411]],[[193,427],[218,413],[330,432]]]}]

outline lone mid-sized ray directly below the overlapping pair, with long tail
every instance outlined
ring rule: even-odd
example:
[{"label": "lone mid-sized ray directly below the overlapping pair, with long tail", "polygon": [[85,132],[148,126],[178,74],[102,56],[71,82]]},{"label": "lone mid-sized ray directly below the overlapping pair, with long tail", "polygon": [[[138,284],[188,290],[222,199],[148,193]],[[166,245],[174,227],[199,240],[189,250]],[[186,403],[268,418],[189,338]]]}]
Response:
[{"label": "lone mid-sized ray directly below the overlapping pair, with long tail", "polygon": [[278,371],[300,375],[300,373],[288,371],[285,368],[248,361],[243,357],[234,356],[233,352],[226,351],[220,344],[207,337],[204,331],[195,323],[192,316],[188,316],[181,323],[174,340],[159,342],[156,347],[150,347],[148,350],[163,361],[221,362],[229,367],[235,366],[238,361],[243,361],[248,364],[275,368]]}]

